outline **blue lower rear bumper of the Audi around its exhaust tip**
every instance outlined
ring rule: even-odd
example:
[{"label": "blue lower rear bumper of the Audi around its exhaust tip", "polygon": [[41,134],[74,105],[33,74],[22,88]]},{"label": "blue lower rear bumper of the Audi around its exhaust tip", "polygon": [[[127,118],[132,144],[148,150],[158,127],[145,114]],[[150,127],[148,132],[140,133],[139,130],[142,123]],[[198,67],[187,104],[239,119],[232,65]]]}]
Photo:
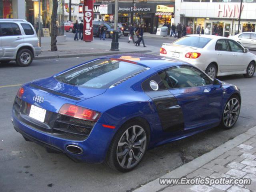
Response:
[{"label": "blue lower rear bumper of the Audi around its exhaust tip", "polygon": [[[12,123],[16,131],[24,137],[47,148],[63,152],[76,162],[102,163],[112,140],[113,132],[103,128],[101,123],[96,123],[91,134],[84,141],[66,140],[41,132],[29,125],[20,122],[14,110],[12,111]],[[66,150],[68,145],[76,145],[82,148],[82,154],[72,154]]]}]

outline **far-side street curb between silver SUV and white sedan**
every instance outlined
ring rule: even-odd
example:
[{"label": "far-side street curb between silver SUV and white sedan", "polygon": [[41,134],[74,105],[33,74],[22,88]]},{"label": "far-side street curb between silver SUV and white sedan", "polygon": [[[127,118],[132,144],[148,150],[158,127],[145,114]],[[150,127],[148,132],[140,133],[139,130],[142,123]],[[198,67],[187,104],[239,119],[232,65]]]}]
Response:
[{"label": "far-side street curb between silver SUV and white sedan", "polygon": [[41,59],[58,59],[58,58],[72,58],[72,57],[86,57],[86,56],[106,56],[106,55],[115,55],[115,54],[126,54],[126,53],[149,53],[150,50],[144,51],[130,51],[130,52],[107,52],[107,53],[81,53],[81,54],[66,54],[66,55],[54,55],[54,56],[42,56],[35,57],[34,60]]}]

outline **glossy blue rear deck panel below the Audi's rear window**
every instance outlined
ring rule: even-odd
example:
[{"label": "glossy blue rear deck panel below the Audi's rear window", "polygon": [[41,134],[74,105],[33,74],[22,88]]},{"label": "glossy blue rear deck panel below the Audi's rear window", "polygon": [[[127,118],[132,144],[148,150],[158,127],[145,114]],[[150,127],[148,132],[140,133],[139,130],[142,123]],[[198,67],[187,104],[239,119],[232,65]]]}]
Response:
[{"label": "glossy blue rear deck panel below the Audi's rear window", "polygon": [[92,98],[106,92],[106,89],[84,88],[81,86],[65,84],[57,81],[53,76],[49,78],[35,80],[32,83],[38,86],[42,86],[44,88],[49,88],[50,90],[56,90],[60,93],[84,99]]}]

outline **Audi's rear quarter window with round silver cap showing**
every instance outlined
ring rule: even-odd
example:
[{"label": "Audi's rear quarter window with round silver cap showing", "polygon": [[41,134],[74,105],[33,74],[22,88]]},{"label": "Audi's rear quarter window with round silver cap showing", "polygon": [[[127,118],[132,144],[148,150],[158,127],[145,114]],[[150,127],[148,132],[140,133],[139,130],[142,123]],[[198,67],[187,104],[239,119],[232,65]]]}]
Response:
[{"label": "Audi's rear quarter window with round silver cap showing", "polygon": [[150,78],[142,82],[141,86],[145,92],[166,90],[166,86],[160,78],[159,74],[151,76]]}]

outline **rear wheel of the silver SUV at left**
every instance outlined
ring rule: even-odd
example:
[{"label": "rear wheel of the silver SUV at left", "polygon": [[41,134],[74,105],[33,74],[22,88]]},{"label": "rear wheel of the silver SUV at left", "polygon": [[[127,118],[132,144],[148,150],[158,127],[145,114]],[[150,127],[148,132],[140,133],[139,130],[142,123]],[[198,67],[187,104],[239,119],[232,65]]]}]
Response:
[{"label": "rear wheel of the silver SUV at left", "polygon": [[29,66],[33,61],[33,54],[28,49],[19,50],[16,56],[16,63],[21,67]]}]

